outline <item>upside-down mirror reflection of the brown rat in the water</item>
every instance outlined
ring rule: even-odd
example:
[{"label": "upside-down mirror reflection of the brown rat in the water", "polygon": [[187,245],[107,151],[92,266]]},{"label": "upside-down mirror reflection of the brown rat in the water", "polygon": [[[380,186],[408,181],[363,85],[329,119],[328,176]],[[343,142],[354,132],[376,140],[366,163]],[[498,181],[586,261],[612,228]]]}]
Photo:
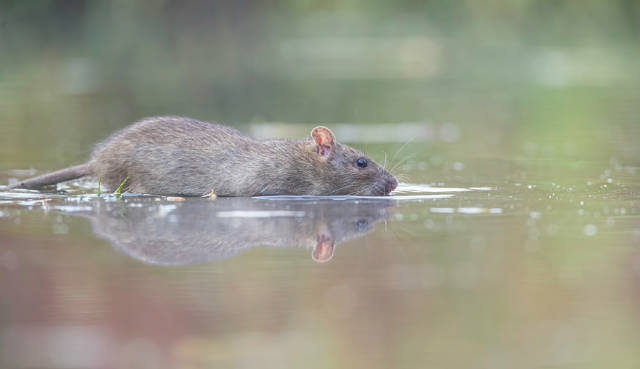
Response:
[{"label": "upside-down mirror reflection of the brown rat in the water", "polygon": [[255,246],[305,247],[313,260],[326,262],[338,244],[387,219],[394,204],[384,199],[101,201],[89,218],[98,236],[148,264],[204,263]]}]

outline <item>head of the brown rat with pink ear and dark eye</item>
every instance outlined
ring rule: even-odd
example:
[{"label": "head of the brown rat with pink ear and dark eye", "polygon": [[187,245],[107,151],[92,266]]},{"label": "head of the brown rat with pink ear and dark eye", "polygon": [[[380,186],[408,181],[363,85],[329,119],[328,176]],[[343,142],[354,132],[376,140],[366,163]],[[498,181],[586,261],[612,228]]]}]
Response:
[{"label": "head of the brown rat with pink ear and dark eye", "polygon": [[319,195],[385,196],[398,182],[381,165],[362,152],[340,144],[327,127],[311,131],[314,178]]}]

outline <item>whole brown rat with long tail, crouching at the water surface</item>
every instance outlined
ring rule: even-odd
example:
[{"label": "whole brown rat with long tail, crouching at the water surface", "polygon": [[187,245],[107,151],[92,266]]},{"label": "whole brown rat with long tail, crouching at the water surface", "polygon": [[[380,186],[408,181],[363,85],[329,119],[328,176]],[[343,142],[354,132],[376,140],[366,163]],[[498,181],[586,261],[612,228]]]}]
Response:
[{"label": "whole brown rat with long tail, crouching at the water surface", "polygon": [[95,176],[108,190],[155,195],[385,196],[398,182],[327,127],[311,138],[254,139],[236,129],[167,116],[140,120],[97,144],[85,164],[20,181],[9,188]]}]

